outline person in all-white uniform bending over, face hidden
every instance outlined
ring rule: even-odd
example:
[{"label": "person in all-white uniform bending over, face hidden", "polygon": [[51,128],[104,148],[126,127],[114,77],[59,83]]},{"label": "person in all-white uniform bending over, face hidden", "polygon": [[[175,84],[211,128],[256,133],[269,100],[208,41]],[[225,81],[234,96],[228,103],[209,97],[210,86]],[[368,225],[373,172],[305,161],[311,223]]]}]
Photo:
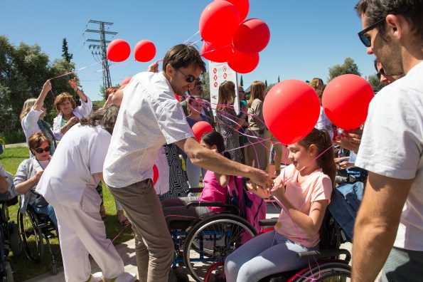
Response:
[{"label": "person in all-white uniform bending over, face hidden", "polygon": [[[135,280],[134,275],[124,273],[122,258],[106,238],[98,212],[101,199],[95,191],[102,179],[118,111],[114,105],[98,110],[72,127],[60,141],[36,188],[55,209],[68,282]],[[102,273],[91,276],[88,254]]]}]

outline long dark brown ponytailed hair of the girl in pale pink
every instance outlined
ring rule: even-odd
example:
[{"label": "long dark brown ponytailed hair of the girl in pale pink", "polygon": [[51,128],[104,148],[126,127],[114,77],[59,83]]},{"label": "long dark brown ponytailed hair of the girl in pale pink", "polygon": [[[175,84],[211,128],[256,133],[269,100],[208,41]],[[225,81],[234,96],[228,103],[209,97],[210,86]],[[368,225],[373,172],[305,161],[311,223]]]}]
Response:
[{"label": "long dark brown ponytailed hair of the girl in pale pink", "polygon": [[[324,150],[327,150],[328,147],[332,147],[331,136],[329,136],[328,132],[326,130],[318,130],[316,128],[313,128],[313,130],[311,130],[306,137],[299,140],[298,143],[306,148],[311,145],[315,145],[317,147],[317,155],[320,155]],[[317,159],[318,166],[321,167],[324,174],[331,178],[333,186],[335,185],[336,174],[336,164],[335,160],[333,160],[334,157],[335,154],[333,152],[333,148],[331,148]]]}]

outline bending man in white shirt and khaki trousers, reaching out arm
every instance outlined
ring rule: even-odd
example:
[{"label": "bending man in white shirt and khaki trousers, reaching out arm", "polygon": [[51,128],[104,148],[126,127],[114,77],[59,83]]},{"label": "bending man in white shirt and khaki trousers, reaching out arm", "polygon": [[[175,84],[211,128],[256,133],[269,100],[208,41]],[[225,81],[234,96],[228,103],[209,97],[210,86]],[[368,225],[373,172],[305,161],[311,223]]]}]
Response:
[{"label": "bending man in white shirt and khaki trousers, reaching out arm", "polygon": [[122,103],[103,172],[132,221],[140,281],[168,281],[173,258],[173,241],[151,181],[162,145],[176,143],[193,164],[205,169],[250,177],[266,188],[272,185],[265,172],[231,162],[193,138],[175,93],[183,95],[193,88],[202,72],[205,63],[196,48],[180,44],[164,56],[161,73],[138,73],[113,96],[114,103]]}]

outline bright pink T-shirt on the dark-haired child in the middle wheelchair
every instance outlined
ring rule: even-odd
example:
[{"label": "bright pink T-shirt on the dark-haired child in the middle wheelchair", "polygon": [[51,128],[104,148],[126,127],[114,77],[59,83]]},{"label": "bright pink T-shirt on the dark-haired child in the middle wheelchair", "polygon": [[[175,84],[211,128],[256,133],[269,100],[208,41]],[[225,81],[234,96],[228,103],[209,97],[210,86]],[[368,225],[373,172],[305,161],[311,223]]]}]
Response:
[{"label": "bright pink T-shirt on the dark-haired child in the middle wheelchair", "polygon": [[[231,181],[232,177],[231,177]],[[213,201],[213,202],[222,202],[226,204],[227,202],[227,187],[220,186],[218,179],[216,179],[215,173],[208,170],[205,172],[204,179],[204,188],[203,192],[200,194],[199,202],[201,201]],[[210,211],[222,211],[225,210],[223,207],[208,207]]]}]

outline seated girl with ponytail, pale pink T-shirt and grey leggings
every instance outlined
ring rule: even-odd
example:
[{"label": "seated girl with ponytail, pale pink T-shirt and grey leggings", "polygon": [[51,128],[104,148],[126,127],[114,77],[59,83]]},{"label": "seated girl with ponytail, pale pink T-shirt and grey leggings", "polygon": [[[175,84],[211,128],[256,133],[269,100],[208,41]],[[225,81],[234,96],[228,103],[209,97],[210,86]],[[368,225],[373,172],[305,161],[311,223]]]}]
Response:
[{"label": "seated girl with ponytail, pale pink T-shirt and grey leggings", "polygon": [[273,189],[247,184],[260,197],[273,195],[284,207],[273,231],[247,241],[227,256],[227,281],[259,281],[308,264],[297,259],[296,254],[318,249],[319,229],[336,174],[331,147],[328,132],[314,128],[299,142],[288,145],[292,164],[274,180]]}]

